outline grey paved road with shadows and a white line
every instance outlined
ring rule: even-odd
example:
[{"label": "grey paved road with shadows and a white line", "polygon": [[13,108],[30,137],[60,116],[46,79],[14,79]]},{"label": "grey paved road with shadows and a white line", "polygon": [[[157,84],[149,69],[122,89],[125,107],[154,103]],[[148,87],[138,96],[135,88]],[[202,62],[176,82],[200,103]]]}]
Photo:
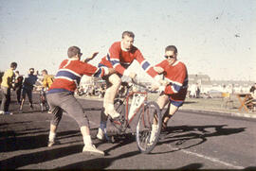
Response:
[{"label": "grey paved road with shadows and a white line", "polygon": [[[84,109],[102,105],[80,101]],[[16,110],[13,104],[11,110]],[[86,112],[95,137],[100,111]],[[104,157],[82,154],[79,128],[65,115],[58,129],[61,145],[46,147],[50,118],[49,113],[28,110],[0,115],[0,169],[256,169],[256,120],[251,118],[178,111],[151,154],[140,154],[133,137],[114,144],[93,139]]]}]

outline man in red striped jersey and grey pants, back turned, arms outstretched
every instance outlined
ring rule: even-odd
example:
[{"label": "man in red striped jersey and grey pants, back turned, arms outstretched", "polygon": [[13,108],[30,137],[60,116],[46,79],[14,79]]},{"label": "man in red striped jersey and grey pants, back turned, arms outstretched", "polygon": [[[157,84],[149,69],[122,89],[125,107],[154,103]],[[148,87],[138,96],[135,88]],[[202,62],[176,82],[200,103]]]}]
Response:
[{"label": "man in red striped jersey and grey pants, back turned, arms outstretched", "polygon": [[56,144],[56,130],[62,119],[63,112],[66,111],[73,117],[81,128],[84,146],[82,152],[104,155],[104,152],[97,149],[92,144],[89,121],[82,110],[82,105],[74,97],[82,75],[103,77],[111,74],[111,69],[97,68],[84,60],[81,60],[82,53],[79,47],[71,46],[67,50],[68,59],[64,60],[51,84],[47,99],[53,118],[50,124],[48,146]]}]

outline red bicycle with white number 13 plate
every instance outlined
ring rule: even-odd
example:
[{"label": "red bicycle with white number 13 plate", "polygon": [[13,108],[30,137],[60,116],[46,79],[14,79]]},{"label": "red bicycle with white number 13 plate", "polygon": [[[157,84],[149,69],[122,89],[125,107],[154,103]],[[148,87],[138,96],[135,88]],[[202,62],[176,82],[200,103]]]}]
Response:
[{"label": "red bicycle with white number 13 plate", "polygon": [[[127,128],[131,128],[131,123],[138,114],[136,124],[137,147],[141,153],[150,153],[158,142],[161,122],[157,122],[155,135],[152,133],[155,121],[161,121],[161,113],[158,105],[154,101],[148,101],[147,87],[132,79],[133,84],[142,87],[144,91],[129,92],[114,101],[115,110],[120,113],[119,118],[110,118],[110,123],[119,130],[119,134],[125,133]],[[132,102],[129,108],[129,99]]]}]

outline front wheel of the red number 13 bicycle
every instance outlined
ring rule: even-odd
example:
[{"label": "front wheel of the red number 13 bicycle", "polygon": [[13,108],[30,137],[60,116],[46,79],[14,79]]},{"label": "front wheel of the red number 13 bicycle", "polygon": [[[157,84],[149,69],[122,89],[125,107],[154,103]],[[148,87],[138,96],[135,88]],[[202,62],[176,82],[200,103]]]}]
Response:
[{"label": "front wheel of the red number 13 bicycle", "polygon": [[151,101],[140,110],[137,119],[137,147],[142,153],[150,153],[158,142],[161,130],[161,113],[158,105]]}]

